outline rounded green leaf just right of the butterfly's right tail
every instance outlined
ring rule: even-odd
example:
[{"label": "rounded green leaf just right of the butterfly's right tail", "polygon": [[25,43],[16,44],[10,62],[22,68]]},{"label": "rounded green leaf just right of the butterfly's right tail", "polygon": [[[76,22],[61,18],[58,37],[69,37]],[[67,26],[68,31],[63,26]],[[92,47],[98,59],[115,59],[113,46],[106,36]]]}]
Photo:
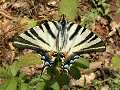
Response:
[{"label": "rounded green leaf just right of the butterfly's right tail", "polygon": [[87,69],[89,68],[89,61],[85,58],[80,58],[79,60],[77,60],[73,66],[74,67],[79,67],[79,68],[83,68],[83,69]]}]

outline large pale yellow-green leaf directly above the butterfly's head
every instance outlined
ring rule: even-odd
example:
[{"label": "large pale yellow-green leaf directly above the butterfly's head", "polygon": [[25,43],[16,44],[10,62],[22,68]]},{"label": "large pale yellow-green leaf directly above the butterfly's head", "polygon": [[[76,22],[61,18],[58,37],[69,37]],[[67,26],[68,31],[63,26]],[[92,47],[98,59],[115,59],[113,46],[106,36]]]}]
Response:
[{"label": "large pale yellow-green leaf directly above the butterfly's head", "polygon": [[59,14],[64,14],[70,20],[74,20],[78,12],[78,6],[78,0],[61,0],[59,3]]}]

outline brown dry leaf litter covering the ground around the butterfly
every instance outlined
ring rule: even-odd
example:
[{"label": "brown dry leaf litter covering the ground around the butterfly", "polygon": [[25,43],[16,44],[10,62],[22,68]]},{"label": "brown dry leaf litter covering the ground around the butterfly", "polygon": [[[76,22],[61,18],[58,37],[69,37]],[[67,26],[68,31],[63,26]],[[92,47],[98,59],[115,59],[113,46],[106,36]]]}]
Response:
[{"label": "brown dry leaf litter covering the ground around the butterfly", "polygon": [[[101,90],[108,90],[109,77],[114,76],[120,67],[120,1],[108,0],[109,13],[90,25],[90,29],[97,33],[105,42],[106,51],[83,55],[90,61],[90,68],[82,71],[82,77],[86,78],[89,89],[93,87],[93,80],[101,81]],[[59,20],[59,0],[0,0],[0,66],[11,65],[18,54],[11,45],[12,37],[31,27],[29,20],[41,23],[43,20]],[[119,5],[117,5],[119,3]],[[88,13],[92,5],[89,0],[80,0],[78,16]],[[78,19],[76,17],[76,19]],[[81,22],[79,18],[79,22]],[[26,26],[26,24],[28,24]],[[23,50],[22,53],[28,53]],[[117,59],[117,60],[116,60]],[[115,61],[116,60],[116,61]],[[35,66],[36,67],[36,66]],[[34,66],[32,68],[35,68]],[[25,68],[28,72],[31,68]],[[30,69],[30,70],[29,70]],[[23,71],[25,71],[23,70]],[[36,69],[34,69],[36,70]],[[34,71],[33,70],[33,71]],[[32,73],[30,71],[29,73]],[[27,72],[27,71],[25,71]],[[31,75],[29,74],[29,75]],[[0,83],[4,81],[1,79]],[[71,80],[72,86],[82,87],[84,81]],[[105,88],[105,89],[104,89]],[[92,89],[90,89],[92,90]],[[112,90],[112,89],[111,89]],[[117,89],[116,89],[117,90]],[[120,89],[118,89],[120,90]]]}]

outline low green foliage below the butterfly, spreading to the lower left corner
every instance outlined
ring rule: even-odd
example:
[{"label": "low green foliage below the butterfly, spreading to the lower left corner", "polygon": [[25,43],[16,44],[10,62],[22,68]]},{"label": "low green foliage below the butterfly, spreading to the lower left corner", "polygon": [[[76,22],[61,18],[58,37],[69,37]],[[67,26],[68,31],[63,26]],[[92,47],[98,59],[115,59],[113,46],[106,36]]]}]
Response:
[{"label": "low green foliage below the butterfly, spreading to the lower left corner", "polygon": [[26,54],[21,56],[12,65],[6,66],[6,68],[0,68],[0,77],[6,79],[6,82],[0,86],[0,89],[32,90],[34,88],[35,90],[60,90],[61,87],[69,85],[71,76],[74,79],[81,77],[80,68],[89,67],[89,62],[81,58],[68,71],[64,70],[56,62],[54,67],[47,67],[42,75],[36,75],[32,79],[29,79],[28,76],[20,72],[20,68],[23,66],[41,64],[39,58],[38,55],[33,53]]}]

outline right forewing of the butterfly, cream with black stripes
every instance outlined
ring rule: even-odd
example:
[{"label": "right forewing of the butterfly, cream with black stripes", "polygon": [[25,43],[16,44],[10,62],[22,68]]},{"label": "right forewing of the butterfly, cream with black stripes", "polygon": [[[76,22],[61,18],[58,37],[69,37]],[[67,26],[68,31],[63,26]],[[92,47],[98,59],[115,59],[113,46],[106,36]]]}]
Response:
[{"label": "right forewing of the butterfly, cream with black stripes", "polygon": [[68,52],[69,55],[105,50],[104,42],[92,31],[81,27],[79,24],[69,24],[67,35],[67,44],[63,51]]}]

